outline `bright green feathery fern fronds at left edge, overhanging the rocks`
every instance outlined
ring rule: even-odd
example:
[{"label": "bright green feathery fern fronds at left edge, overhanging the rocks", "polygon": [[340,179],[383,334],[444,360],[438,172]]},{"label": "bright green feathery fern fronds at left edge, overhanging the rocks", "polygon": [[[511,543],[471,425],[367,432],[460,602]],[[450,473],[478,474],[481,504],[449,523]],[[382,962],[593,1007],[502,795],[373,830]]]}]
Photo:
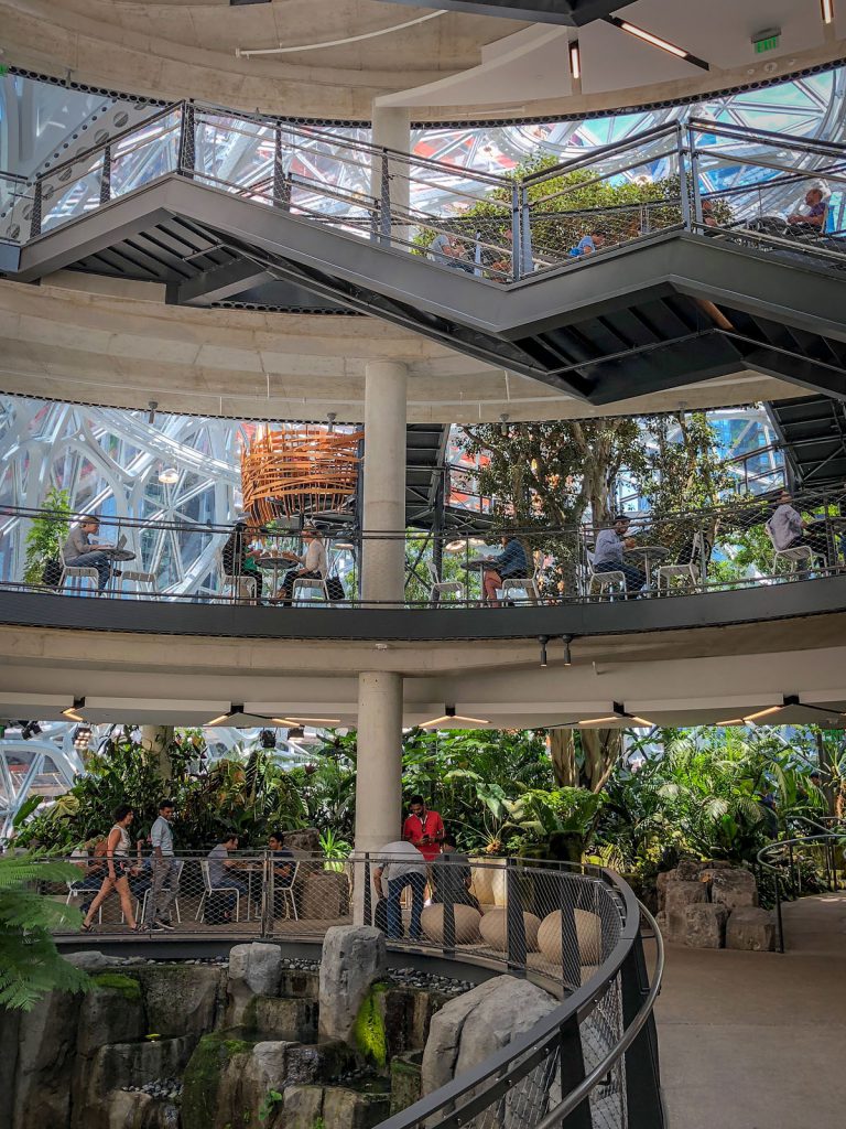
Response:
[{"label": "bright green feathery fern fronds at left edge, overhanging the rocks", "polygon": [[53,929],[78,927],[81,913],[37,891],[38,882],[77,878],[77,867],[43,855],[0,858],[0,1007],[28,1012],[49,991],[87,989],[86,973],[62,960],[52,937]]}]

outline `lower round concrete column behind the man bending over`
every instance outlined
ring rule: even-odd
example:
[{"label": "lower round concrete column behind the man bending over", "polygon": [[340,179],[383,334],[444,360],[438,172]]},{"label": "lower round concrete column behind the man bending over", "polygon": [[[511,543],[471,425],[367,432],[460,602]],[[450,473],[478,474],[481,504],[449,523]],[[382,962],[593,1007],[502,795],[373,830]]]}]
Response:
[{"label": "lower round concrete column behind the man bending over", "polygon": [[[355,854],[399,839],[403,817],[403,676],[359,675]],[[353,916],[364,920],[364,866],[355,867]]]}]

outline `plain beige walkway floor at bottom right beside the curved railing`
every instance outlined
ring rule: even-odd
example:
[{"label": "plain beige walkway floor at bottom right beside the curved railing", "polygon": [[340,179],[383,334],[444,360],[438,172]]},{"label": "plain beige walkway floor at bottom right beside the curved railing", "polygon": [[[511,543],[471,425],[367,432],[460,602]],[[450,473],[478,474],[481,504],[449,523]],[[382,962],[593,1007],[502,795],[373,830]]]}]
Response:
[{"label": "plain beige walkway floor at bottom right beside the curved railing", "polygon": [[669,1129],[843,1129],[846,894],[784,907],[787,952],[668,946]]}]

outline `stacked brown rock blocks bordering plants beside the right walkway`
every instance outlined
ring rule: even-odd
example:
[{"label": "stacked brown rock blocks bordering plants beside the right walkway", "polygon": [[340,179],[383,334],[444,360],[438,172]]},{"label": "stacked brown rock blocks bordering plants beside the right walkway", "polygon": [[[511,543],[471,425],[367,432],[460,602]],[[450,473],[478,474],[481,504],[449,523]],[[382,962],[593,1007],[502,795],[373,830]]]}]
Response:
[{"label": "stacked brown rock blocks bordering plants beside the right walkway", "polygon": [[750,870],[722,861],[685,859],[658,876],[658,924],[669,944],[689,948],[770,952],[773,913],[758,905]]}]

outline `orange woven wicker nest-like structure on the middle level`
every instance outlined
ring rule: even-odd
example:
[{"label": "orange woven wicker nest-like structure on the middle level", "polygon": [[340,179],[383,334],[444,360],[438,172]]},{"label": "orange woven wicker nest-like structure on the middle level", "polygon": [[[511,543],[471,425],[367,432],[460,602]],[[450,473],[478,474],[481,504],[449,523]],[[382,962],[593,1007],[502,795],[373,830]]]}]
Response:
[{"label": "orange woven wicker nest-like structure on the middle level", "polygon": [[363,431],[285,428],[256,435],[241,453],[244,508],[262,525],[301,514],[347,510]]}]

